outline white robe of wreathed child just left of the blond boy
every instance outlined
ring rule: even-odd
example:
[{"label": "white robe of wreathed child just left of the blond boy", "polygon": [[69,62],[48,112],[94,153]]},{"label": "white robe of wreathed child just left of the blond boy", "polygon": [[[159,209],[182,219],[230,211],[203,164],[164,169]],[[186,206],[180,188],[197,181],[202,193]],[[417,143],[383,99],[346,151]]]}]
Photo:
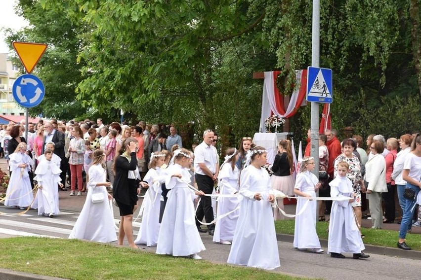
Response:
[{"label": "white robe of wreathed child just left of the blond boy", "polygon": [[[316,175],[309,171],[305,171],[297,175],[295,189],[299,189],[304,193],[310,194],[312,197],[316,197],[314,187],[318,182],[319,180]],[[304,212],[295,217],[294,248],[320,248],[320,241],[316,232],[317,201],[310,200],[307,202],[307,199],[297,199],[295,213],[299,213],[306,203],[308,203],[308,205]]]}]

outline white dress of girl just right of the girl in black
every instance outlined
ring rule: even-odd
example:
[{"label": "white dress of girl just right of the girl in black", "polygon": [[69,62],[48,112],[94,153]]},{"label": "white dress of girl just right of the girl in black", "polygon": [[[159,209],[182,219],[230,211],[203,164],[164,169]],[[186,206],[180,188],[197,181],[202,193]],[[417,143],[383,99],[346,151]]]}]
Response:
[{"label": "white dress of girl just right of the girl in black", "polygon": [[148,182],[149,188],[146,191],[141,210],[142,223],[135,244],[146,244],[146,246],[156,246],[160,229],[159,212],[161,206],[161,184],[165,182],[165,171],[159,167],[149,169],[143,178]]}]

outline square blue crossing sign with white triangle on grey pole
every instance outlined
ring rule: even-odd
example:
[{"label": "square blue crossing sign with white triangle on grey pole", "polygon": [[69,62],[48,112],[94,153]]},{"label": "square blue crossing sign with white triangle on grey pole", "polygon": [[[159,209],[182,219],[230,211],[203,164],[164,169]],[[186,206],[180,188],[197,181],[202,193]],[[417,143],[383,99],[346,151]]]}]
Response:
[{"label": "square blue crossing sign with white triangle on grey pole", "polygon": [[307,101],[332,103],[332,69],[307,68]]}]

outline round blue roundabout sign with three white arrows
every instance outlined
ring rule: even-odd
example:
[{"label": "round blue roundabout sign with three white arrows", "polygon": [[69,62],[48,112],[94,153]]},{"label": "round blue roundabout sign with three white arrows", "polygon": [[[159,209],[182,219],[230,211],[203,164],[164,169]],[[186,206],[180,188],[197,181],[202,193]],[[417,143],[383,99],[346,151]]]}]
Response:
[{"label": "round blue roundabout sign with three white arrows", "polygon": [[12,87],[13,98],[26,108],[39,105],[44,98],[44,85],[35,75],[24,74],[15,80]]}]

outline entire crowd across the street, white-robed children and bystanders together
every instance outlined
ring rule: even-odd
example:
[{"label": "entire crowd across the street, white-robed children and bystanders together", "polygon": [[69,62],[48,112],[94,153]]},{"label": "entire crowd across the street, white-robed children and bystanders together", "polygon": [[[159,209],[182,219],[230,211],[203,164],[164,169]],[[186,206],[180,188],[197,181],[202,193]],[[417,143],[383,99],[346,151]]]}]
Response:
[{"label": "entire crowd across the street, white-robed children and bystanders together", "polygon": [[[413,221],[415,206],[421,205],[420,134],[387,141],[370,135],[366,151],[361,136],[340,142],[335,130],[327,130],[319,137],[319,177],[313,174],[310,140],[295,177],[290,140],[279,142],[268,172],[263,168],[267,151],[251,137],[243,137],[238,149],[226,148],[220,160],[219,136],[210,129],[188,150],[174,126],[167,136],[158,125],[144,122],[50,120],[28,124],[26,140],[24,125],[9,124],[0,132],[11,173],[5,205],[38,208],[40,215],[53,217],[58,191],[67,190],[70,178],[69,195],[87,192],[87,197],[69,238],[118,245],[126,239],[133,248],[145,244],[157,246],[158,254],[201,259],[198,253],[205,247],[199,233],[208,233],[214,242],[231,245],[228,263],[274,269],[280,262],[273,220],[283,218],[278,208],[284,208],[279,192],[297,197],[294,247],[299,250],[324,252],[315,221],[317,216],[327,221],[330,214],[331,256],[369,257],[363,252],[363,212],[369,210],[374,229],[393,223],[395,188],[402,209],[398,247],[411,249],[405,235],[421,225],[420,211]],[[34,180],[39,188],[35,198]],[[142,188],[147,191],[140,206]],[[318,213],[311,199],[316,193],[327,198],[318,202]],[[117,236],[111,201],[121,216]],[[135,237],[133,214],[139,207],[142,223]]]}]

